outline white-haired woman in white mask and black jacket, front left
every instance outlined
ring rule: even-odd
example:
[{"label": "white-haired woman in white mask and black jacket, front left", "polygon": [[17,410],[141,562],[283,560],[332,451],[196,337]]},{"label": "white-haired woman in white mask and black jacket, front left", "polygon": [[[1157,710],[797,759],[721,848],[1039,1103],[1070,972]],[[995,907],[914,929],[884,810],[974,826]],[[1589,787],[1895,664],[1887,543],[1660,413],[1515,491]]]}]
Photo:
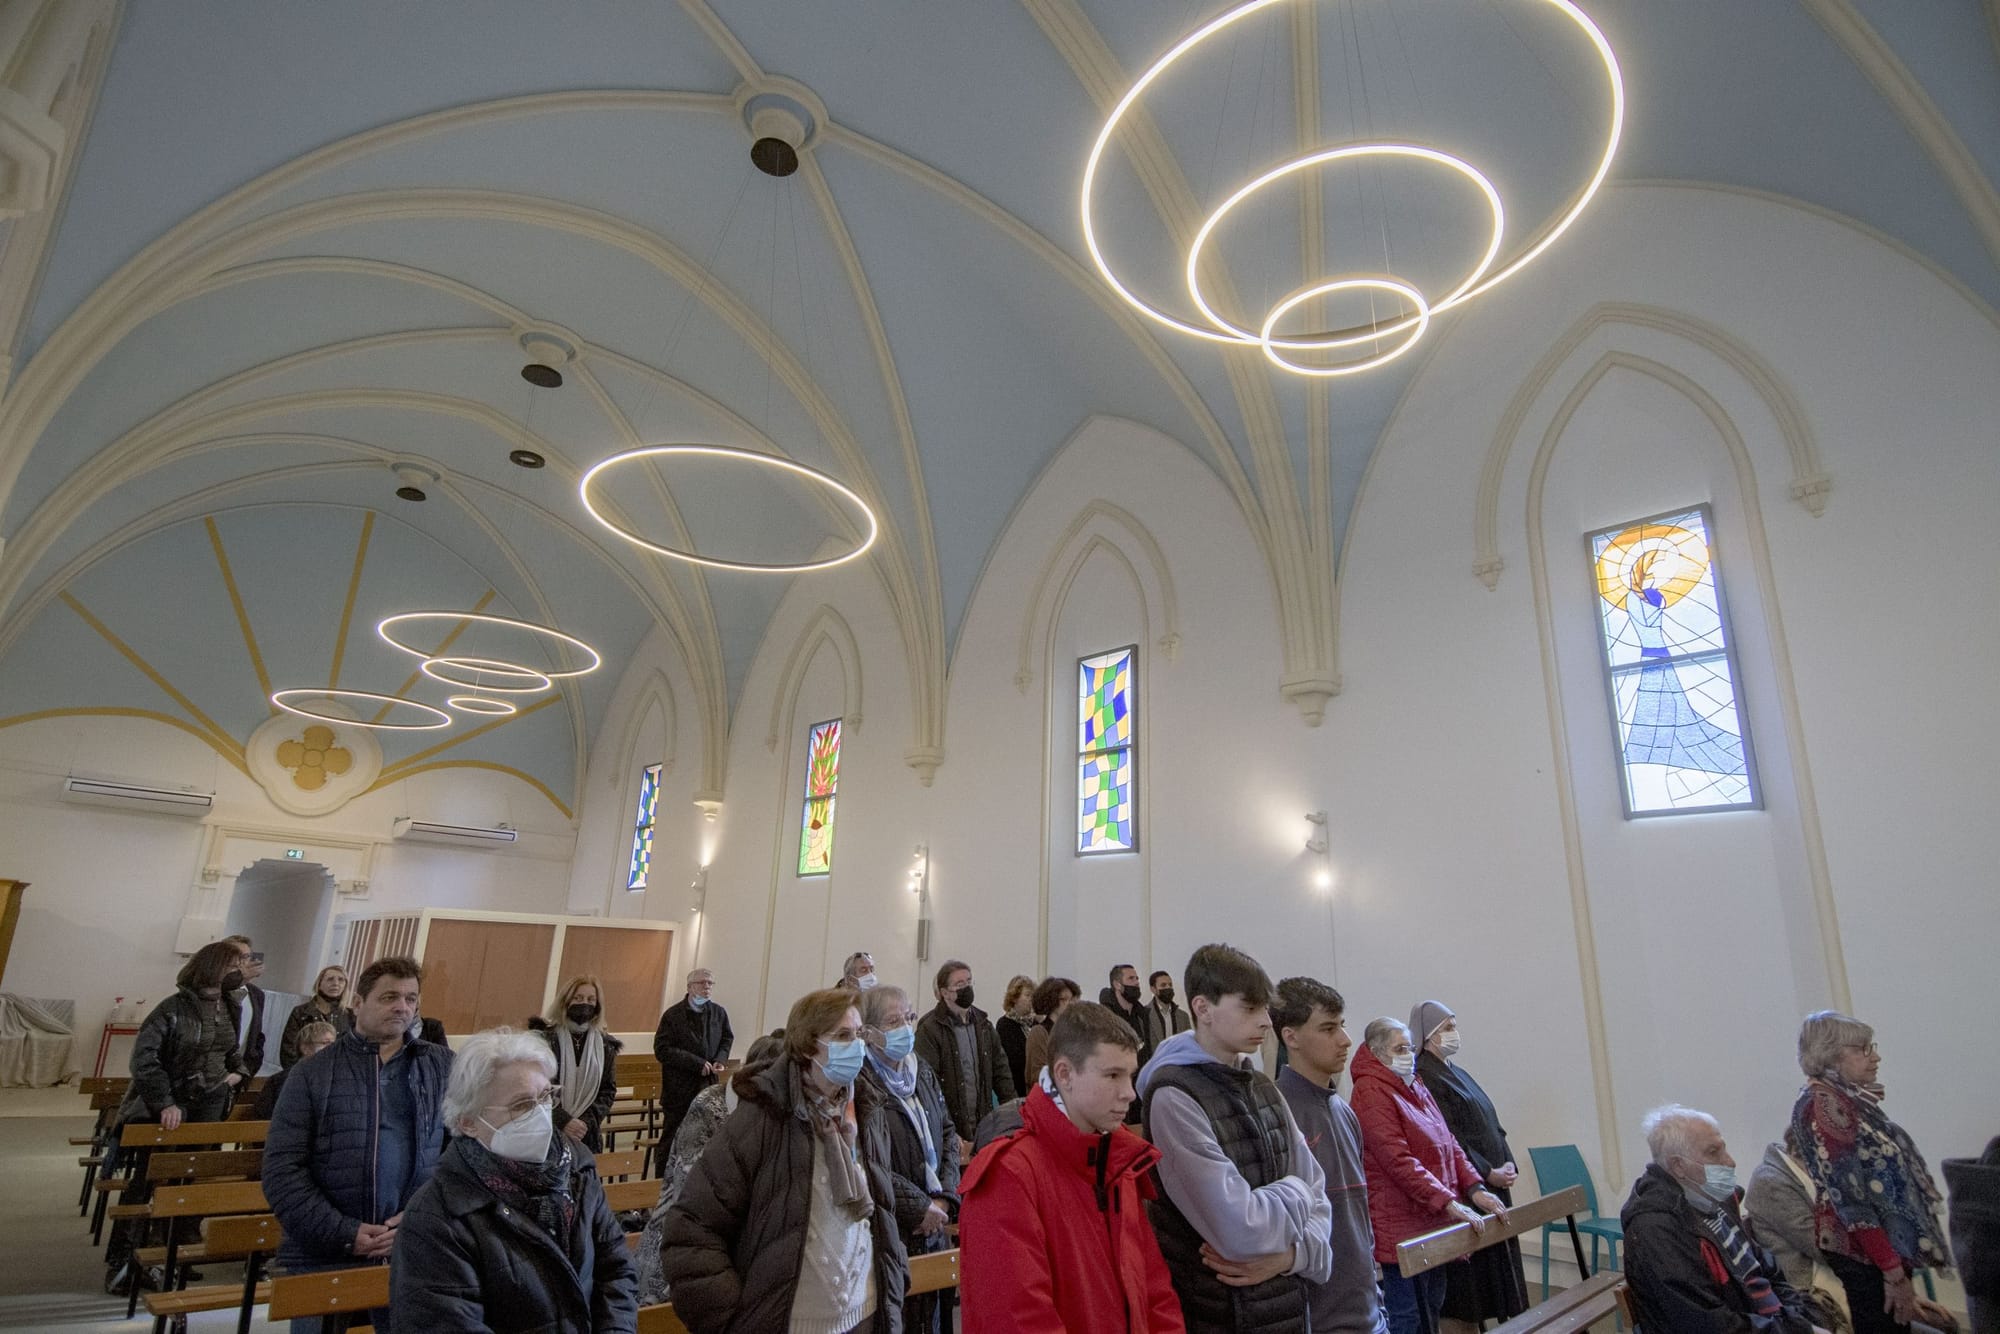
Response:
[{"label": "white-haired woman in white mask and black jacket, front left", "polygon": [[396,1228],[404,1330],[630,1334],[636,1280],[596,1160],[556,1134],[556,1058],[532,1032],[472,1034],[452,1060],[452,1142]]}]

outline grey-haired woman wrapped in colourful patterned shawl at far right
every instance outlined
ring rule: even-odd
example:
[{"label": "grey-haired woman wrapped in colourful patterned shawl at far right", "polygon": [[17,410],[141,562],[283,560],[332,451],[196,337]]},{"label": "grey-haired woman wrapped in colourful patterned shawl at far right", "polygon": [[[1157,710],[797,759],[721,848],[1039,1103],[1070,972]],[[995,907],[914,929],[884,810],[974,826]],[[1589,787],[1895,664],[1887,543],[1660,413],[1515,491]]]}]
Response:
[{"label": "grey-haired woman wrapped in colourful patterned shawl at far right", "polygon": [[1792,1108],[1800,1160],[1816,1186],[1814,1232],[1848,1292],[1854,1334],[1948,1324],[1916,1296],[1914,1270],[1948,1268],[1938,1186],[1910,1134],[1882,1110],[1874,1028],[1834,1010],[1798,1030],[1806,1088]]}]

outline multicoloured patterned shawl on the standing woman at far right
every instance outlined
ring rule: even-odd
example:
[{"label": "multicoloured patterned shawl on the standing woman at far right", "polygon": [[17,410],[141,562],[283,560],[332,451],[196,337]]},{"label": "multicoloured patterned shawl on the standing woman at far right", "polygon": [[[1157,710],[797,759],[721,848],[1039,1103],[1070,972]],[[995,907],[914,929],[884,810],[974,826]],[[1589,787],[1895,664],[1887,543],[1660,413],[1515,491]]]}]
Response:
[{"label": "multicoloured patterned shawl on the standing woman at far right", "polygon": [[[1814,1084],[1832,1092],[1842,1108],[1852,1108],[1852,1124],[1844,1126],[1852,1142],[1842,1152],[1828,1144],[1826,1128],[1814,1116]],[[1880,1086],[1828,1072],[1806,1092],[1792,1114],[1792,1128],[1822,1208],[1830,1208],[1842,1228],[1882,1228],[1896,1254],[1916,1268],[1950,1268],[1952,1252],[1938,1226],[1938,1186],[1910,1132],[1882,1110]]]}]

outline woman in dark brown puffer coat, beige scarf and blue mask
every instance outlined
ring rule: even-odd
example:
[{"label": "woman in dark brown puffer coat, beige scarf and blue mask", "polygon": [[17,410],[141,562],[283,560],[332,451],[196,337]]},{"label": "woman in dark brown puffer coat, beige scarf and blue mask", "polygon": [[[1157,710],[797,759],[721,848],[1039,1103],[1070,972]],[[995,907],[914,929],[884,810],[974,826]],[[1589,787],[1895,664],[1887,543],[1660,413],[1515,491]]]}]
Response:
[{"label": "woman in dark brown puffer coat, beige scarf and blue mask", "polygon": [[902,1334],[888,1108],[864,1062],[856,994],[824,990],[792,1006],[776,1060],[736,1072],[660,1242],[694,1334]]}]

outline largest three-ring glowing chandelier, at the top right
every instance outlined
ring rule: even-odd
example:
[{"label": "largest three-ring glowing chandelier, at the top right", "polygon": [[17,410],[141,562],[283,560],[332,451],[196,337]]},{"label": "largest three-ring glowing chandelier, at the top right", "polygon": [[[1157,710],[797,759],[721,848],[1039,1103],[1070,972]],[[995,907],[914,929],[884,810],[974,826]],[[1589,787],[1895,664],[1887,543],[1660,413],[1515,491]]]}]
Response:
[{"label": "largest three-ring glowing chandelier, at the top right", "polygon": [[[1178,62],[1182,56],[1186,56],[1196,46],[1200,46],[1214,34],[1222,32],[1230,24],[1284,2],[1286,0],[1248,0],[1248,4],[1240,4],[1212,18],[1210,22],[1202,24],[1200,28],[1184,36],[1180,42],[1176,42],[1144,74],[1138,76],[1138,82],[1134,82],[1132,88],[1128,88],[1122,98],[1118,98],[1118,104],[1106,118],[1104,128],[1098,130],[1096,144],[1090,146],[1090,158],[1084,162],[1084,186],[1082,186],[1084,246],[1090,250],[1092,264],[1096,264],[1098,274],[1112,288],[1112,292],[1116,292],[1128,306],[1132,306],[1150,320],[1156,320],[1192,338],[1206,338],[1210,342],[1260,348],[1272,364],[1298,374],[1308,374],[1308,376],[1354,374],[1358,370],[1370,370],[1374,366],[1382,366],[1384,362],[1402,356],[1412,346],[1416,346],[1416,342],[1424,336],[1424,330],[1428,328],[1434,316],[1444,314],[1446,310],[1452,310],[1456,306],[1462,306],[1474,296],[1490,292],[1498,284],[1506,282],[1522,268],[1532,264],[1536,256],[1540,256],[1544,250],[1556,244],[1556,238],[1560,238],[1564,232],[1570,230],[1576,218],[1582,216],[1584,208],[1602,188],[1604,178],[1612,170],[1612,158],[1618,156],[1618,140],[1624,134],[1624,76],[1618,70],[1618,56],[1612,52],[1612,46],[1604,38],[1604,32],[1596,26],[1596,22],[1590,20],[1588,14],[1584,14],[1584,10],[1580,10],[1572,0],[1540,0],[1542,4],[1556,8],[1572,24],[1576,24],[1576,28],[1596,50],[1598,60],[1604,64],[1604,80],[1610,88],[1610,124],[1604,136],[1604,154],[1598,160],[1596,170],[1592,170],[1590,180],[1584,184],[1584,188],[1576,192],[1576,196],[1568,202],[1568,206],[1560,214],[1556,214],[1548,224],[1544,224],[1544,228],[1540,230],[1540,234],[1532,244],[1520,250],[1520,254],[1510,256],[1498,268],[1494,268],[1494,264],[1500,258],[1502,234],[1506,230],[1506,210],[1500,202],[1500,192],[1494,190],[1492,182],[1478,168],[1474,168],[1470,162],[1464,162],[1462,158],[1440,152],[1436,148],[1424,148],[1420,144],[1342,144],[1338,148],[1326,148],[1302,154],[1288,162],[1280,162],[1278,166],[1258,174],[1254,180],[1232,192],[1212,214],[1208,214],[1208,218],[1196,232],[1194,242],[1188,246],[1188,258],[1186,258],[1188,296],[1194,300],[1196,310],[1200,310],[1202,318],[1208,320],[1208,324],[1202,326],[1190,320],[1180,320],[1168,314],[1166,310],[1150,304],[1148,300],[1138,296],[1130,286],[1126,286],[1112,270],[1110,260],[1104,256],[1104,248],[1098,242],[1098,224],[1094,218],[1098,166],[1102,164],[1104,152],[1110,146],[1112,136],[1118,132],[1118,126],[1124,122],[1126,114],[1146,94],[1146,90],[1162,74],[1166,74],[1166,70],[1174,66],[1174,62]],[[1302,0],[1302,2],[1310,4],[1312,0]],[[1430,300],[1414,284],[1394,274],[1336,274],[1330,282],[1308,284],[1278,300],[1264,316],[1258,328],[1248,328],[1218,314],[1208,296],[1202,292],[1200,264],[1202,264],[1202,250],[1208,244],[1210,236],[1216,232],[1216,228],[1222,224],[1222,220],[1248,196],[1256,194],[1258,190],[1276,180],[1282,180],[1306,168],[1338,162],[1344,158],[1364,158],[1364,156],[1396,156],[1396,158],[1412,158],[1446,166],[1464,176],[1466,180],[1470,180],[1486,198],[1488,212],[1492,214],[1492,240],[1486,248],[1486,254],[1480,256],[1480,260],[1458,282],[1458,286],[1446,292],[1442,298]],[[1406,312],[1400,316],[1392,316],[1388,322],[1370,322],[1360,328],[1326,332],[1326,334],[1278,336],[1274,332],[1278,324],[1284,320],[1284,316],[1288,316],[1298,306],[1314,298],[1332,296],[1336,292],[1352,292],[1352,290],[1386,292],[1394,296],[1398,304],[1406,308]],[[1368,344],[1370,348],[1380,348],[1380,342],[1384,338],[1396,334],[1404,334],[1402,342],[1392,346],[1388,352],[1372,350],[1368,356],[1360,360],[1346,360],[1336,364],[1308,364],[1286,356],[1292,352],[1320,352],[1320,354],[1342,352],[1346,348],[1360,348],[1364,344]]]}]

